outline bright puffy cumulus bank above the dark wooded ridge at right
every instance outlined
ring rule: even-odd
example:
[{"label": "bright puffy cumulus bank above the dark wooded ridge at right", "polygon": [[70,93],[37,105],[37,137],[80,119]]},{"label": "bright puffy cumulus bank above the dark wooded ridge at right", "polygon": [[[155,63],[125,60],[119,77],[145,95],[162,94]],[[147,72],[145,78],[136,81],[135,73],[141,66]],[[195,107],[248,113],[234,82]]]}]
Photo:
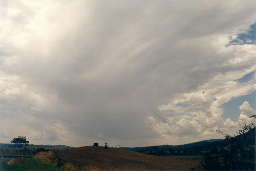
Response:
[{"label": "bright puffy cumulus bank above the dark wooded ridge at right", "polygon": [[[241,60],[241,62],[243,61]],[[252,69],[254,69],[254,65],[252,65]],[[244,72],[247,73],[248,71],[245,70]],[[220,106],[231,99],[254,92],[253,82],[255,79],[246,83],[235,81],[234,78],[243,77],[244,72],[238,74],[237,71],[231,71],[225,75],[218,74],[199,87],[197,91],[178,94],[171,103],[159,105],[159,110],[168,116],[169,127],[163,127],[163,124],[158,121],[157,124],[153,124],[152,128],[160,134],[164,133],[165,135],[168,132],[169,136],[172,134],[178,136],[179,133],[183,132],[195,136],[213,136],[215,130],[219,128],[235,133],[244,124],[252,122],[252,118],[249,116],[254,114],[254,109],[249,102],[245,101],[239,107],[241,113],[238,121],[232,121],[230,118],[224,121],[221,117],[223,109]],[[180,116],[177,117],[177,115]]]}]

